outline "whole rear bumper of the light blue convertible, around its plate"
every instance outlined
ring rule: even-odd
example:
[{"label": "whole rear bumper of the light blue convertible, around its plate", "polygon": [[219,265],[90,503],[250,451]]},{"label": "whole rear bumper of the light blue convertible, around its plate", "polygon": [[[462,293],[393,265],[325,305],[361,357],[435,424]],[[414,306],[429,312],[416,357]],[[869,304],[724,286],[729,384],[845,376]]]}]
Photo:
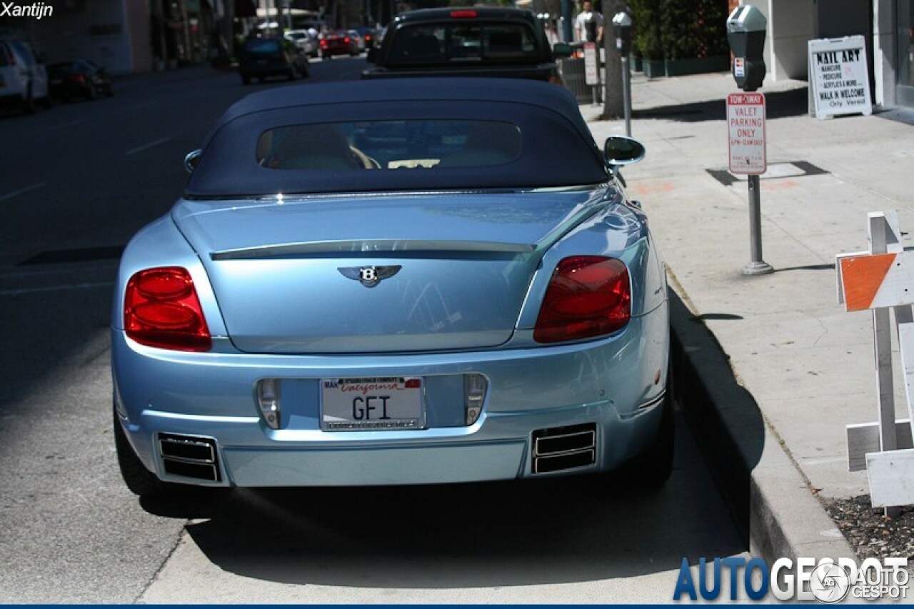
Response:
[{"label": "whole rear bumper of the light blue convertible, around its plate", "polygon": [[[175,354],[137,346],[115,331],[115,401],[143,464],[174,482],[368,486],[609,471],[654,439],[664,387],[654,377],[666,373],[665,325],[664,306],[633,319],[616,337],[587,344],[371,358]],[[469,426],[453,416],[462,404],[454,406],[459,399],[447,394],[449,379],[467,372],[489,382],[483,413]],[[319,395],[309,388],[340,376],[433,379],[429,428],[322,432]],[[258,380],[267,377],[298,388],[283,394],[278,430],[261,420],[254,398]],[[535,473],[535,435],[568,426],[592,429],[590,459]],[[163,434],[213,446],[215,475],[175,475],[182,470],[164,458]]]}]

